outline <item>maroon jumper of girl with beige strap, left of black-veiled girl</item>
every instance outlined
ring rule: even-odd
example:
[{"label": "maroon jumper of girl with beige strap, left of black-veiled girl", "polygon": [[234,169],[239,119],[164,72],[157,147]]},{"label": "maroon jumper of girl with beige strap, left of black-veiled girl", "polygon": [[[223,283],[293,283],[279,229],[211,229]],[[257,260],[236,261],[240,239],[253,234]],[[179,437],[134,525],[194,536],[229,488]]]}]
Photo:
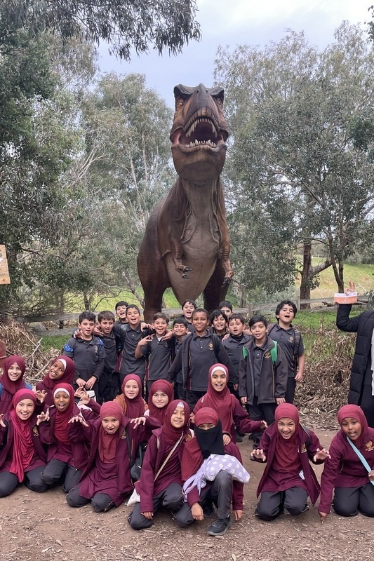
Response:
[{"label": "maroon jumper of girl with beige strap, left of black-veiled girl", "polygon": [[[157,428],[156,431],[152,431],[152,433],[148,442],[147,452],[145,452],[142,477],[140,481],[135,483],[136,490],[140,494],[140,512],[142,513],[153,512],[153,497],[163,492],[169,485],[172,483],[179,483],[179,485],[182,486],[180,461],[185,443],[191,440],[190,433],[184,435],[155,481],[154,477],[166,460],[166,457],[168,457],[169,452],[165,452],[166,442],[162,428]],[[171,449],[172,448],[173,446],[171,446]]]}]

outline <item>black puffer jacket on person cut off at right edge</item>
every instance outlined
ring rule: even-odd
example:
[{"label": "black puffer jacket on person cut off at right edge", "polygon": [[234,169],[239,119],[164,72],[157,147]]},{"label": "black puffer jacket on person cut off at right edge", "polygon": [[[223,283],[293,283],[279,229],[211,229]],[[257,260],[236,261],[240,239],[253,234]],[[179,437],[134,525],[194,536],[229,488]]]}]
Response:
[{"label": "black puffer jacket on person cut off at right edge", "polygon": [[356,349],[349,381],[348,403],[359,405],[368,360],[371,360],[371,337],[374,330],[374,311],[364,311],[355,318],[349,318],[351,304],[340,304],[336,316],[336,326],[342,331],[357,333]]}]

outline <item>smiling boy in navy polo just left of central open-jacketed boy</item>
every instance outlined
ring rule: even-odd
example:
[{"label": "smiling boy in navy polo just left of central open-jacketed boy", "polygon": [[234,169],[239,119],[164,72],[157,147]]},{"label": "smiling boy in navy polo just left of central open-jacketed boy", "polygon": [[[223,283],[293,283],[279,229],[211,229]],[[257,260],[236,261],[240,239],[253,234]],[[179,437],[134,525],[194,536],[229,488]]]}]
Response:
[{"label": "smiling boy in navy polo just left of central open-jacketed boy", "polygon": [[155,380],[165,380],[174,358],[174,341],[165,339],[169,318],[157,312],[153,316],[154,334],[140,339],[135,349],[135,358],[144,356],[147,360],[147,395]]}]

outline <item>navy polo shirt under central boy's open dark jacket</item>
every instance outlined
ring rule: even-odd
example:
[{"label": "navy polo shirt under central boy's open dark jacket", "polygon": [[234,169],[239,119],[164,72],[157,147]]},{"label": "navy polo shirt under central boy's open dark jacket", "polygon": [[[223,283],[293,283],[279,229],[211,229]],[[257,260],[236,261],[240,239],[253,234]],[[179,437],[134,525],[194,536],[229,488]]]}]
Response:
[{"label": "navy polo shirt under central boy's open dark jacket", "polygon": [[212,337],[208,331],[202,337],[196,332],[189,337],[189,389],[207,391],[209,368],[217,362]]}]

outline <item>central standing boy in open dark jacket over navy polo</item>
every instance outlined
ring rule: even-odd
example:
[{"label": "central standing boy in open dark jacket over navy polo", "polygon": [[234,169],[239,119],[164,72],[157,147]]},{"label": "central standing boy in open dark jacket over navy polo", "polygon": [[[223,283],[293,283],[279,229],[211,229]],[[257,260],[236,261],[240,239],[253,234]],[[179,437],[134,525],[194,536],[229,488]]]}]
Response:
[{"label": "central standing boy in open dark jacket over navy polo", "polygon": [[182,347],[168,371],[168,380],[174,382],[182,370],[186,401],[193,411],[196,403],[208,390],[208,371],[215,363],[227,366],[229,376],[237,383],[235,370],[219,337],[208,331],[208,311],[196,308],[192,312],[194,332],[182,343]]}]

